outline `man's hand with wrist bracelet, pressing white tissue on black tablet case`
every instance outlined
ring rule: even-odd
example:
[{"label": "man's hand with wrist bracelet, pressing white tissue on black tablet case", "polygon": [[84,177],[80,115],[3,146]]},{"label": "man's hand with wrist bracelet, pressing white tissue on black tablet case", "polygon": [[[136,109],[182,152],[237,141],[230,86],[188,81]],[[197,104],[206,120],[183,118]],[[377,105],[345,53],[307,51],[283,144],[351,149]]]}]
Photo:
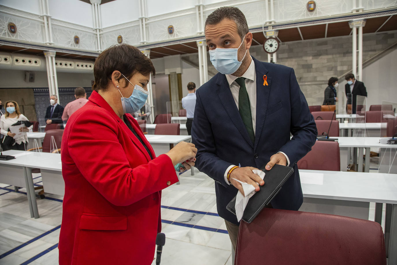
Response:
[{"label": "man's hand with wrist bracelet, pressing white tissue on black tablet case", "polygon": [[[247,182],[248,184],[251,184],[252,186],[255,187],[255,191],[259,191],[259,186],[258,184],[256,184],[256,182],[258,182],[260,186],[263,186],[265,184],[264,180],[262,180],[258,175],[252,172],[252,170],[254,169],[258,169],[258,168],[254,168],[252,166],[236,168],[230,174],[229,177],[230,183],[233,186],[235,186],[237,189],[239,189],[239,191],[243,195],[244,195],[243,186],[241,186],[241,183],[236,180],[240,180],[241,182]],[[235,178],[236,180],[233,180],[233,178]]]}]

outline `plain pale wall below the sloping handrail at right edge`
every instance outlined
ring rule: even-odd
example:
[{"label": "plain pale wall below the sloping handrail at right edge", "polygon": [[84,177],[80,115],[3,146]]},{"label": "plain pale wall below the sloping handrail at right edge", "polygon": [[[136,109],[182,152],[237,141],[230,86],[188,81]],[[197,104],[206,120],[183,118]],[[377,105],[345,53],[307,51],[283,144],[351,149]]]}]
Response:
[{"label": "plain pale wall below the sloping handrail at right edge", "polygon": [[397,103],[397,49],[362,70],[362,80],[367,89],[367,110],[382,101]]}]

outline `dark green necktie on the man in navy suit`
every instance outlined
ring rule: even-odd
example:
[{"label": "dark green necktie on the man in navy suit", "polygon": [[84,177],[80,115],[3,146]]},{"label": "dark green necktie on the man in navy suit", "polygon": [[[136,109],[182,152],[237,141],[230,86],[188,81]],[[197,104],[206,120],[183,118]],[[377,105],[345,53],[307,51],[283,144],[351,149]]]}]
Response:
[{"label": "dark green necktie on the man in navy suit", "polygon": [[245,87],[245,78],[239,77],[236,83],[240,86],[239,91],[239,112],[243,119],[245,128],[247,129],[248,135],[251,138],[252,143],[255,142],[254,128],[252,127],[252,116],[251,116],[251,104],[249,102],[249,97],[247,93],[247,88]]}]

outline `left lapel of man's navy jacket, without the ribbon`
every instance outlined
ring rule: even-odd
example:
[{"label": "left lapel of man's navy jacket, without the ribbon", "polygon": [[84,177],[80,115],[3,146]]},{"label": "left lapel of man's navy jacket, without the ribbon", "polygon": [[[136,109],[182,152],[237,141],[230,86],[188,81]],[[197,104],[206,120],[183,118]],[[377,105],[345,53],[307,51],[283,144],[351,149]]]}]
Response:
[{"label": "left lapel of man's navy jacket, without the ribbon", "polygon": [[236,103],[233,99],[233,95],[231,94],[229,83],[227,83],[226,76],[223,74],[218,74],[218,79],[216,80],[216,93],[224,106],[227,114],[229,115],[230,119],[233,121],[233,124],[236,126],[237,130],[241,133],[244,137],[245,141],[252,145],[252,141],[248,135],[247,129],[241,119],[240,112],[236,106]]}]

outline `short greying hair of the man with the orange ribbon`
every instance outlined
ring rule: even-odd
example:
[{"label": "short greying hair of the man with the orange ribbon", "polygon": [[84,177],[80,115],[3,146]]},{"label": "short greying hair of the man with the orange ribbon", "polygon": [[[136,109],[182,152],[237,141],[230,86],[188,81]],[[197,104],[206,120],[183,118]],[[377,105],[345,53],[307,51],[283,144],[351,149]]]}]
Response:
[{"label": "short greying hair of the man with the orange ribbon", "polygon": [[244,36],[249,32],[247,19],[245,19],[243,12],[234,6],[222,6],[214,10],[214,12],[208,15],[204,29],[207,25],[216,25],[225,18],[233,20],[236,23],[237,32],[241,40],[243,40]]}]

